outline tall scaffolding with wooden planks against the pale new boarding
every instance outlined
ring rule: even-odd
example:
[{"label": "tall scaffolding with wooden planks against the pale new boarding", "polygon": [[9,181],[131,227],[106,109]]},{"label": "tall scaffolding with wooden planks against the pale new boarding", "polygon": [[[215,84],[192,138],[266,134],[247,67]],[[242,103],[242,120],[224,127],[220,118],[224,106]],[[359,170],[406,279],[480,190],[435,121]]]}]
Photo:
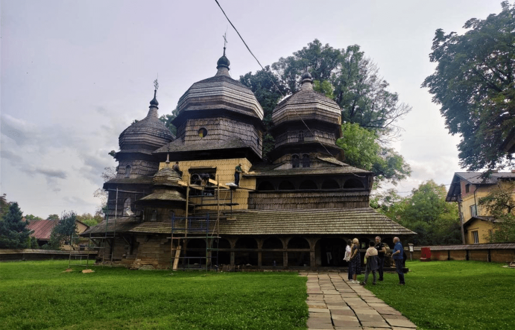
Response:
[{"label": "tall scaffolding with wooden planks against the pale new boarding", "polygon": [[[186,216],[171,218],[170,268],[172,270],[205,269],[205,271],[218,269],[220,215],[226,207],[230,207],[232,214],[232,207],[238,205],[233,203],[233,191],[236,187],[221,185],[218,180],[213,179],[207,179],[200,185],[184,181],[179,181],[179,184],[186,188]],[[191,190],[196,192],[194,196],[190,196]],[[220,192],[223,192],[223,198],[220,198]],[[192,197],[199,199],[200,203],[190,203]],[[210,222],[209,213],[213,209],[205,209],[213,206],[216,206],[214,224],[212,220]],[[192,215],[189,214],[190,207],[192,207]],[[205,255],[188,255],[188,241],[194,239],[205,240]],[[194,260],[199,260],[199,263],[192,263]]]}]

